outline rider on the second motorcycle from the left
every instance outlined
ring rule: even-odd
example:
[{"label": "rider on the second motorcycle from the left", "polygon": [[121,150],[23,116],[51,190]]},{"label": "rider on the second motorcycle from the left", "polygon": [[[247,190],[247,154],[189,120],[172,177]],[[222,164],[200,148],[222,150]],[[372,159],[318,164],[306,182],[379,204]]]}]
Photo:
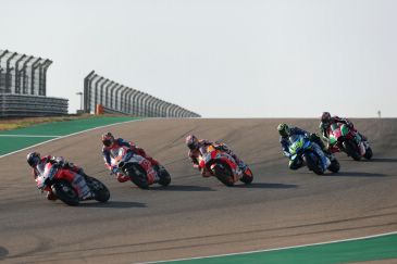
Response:
[{"label": "rider on the second motorcycle from the left", "polygon": [[134,144],[134,142],[127,142],[122,138],[115,139],[113,135],[109,131],[102,135],[102,143],[103,143],[102,155],[104,160],[104,165],[109,171],[112,172],[112,174],[116,175],[117,180],[120,183],[129,180],[129,177],[120,173],[119,166],[111,164],[111,159],[112,158],[114,159],[115,156],[119,155],[119,150],[122,147],[127,147],[128,151],[133,151],[135,154],[141,155],[145,159],[147,159],[154,167],[154,169],[160,168],[159,162],[152,159],[151,156],[148,156],[144,149],[137,147],[136,144]]}]

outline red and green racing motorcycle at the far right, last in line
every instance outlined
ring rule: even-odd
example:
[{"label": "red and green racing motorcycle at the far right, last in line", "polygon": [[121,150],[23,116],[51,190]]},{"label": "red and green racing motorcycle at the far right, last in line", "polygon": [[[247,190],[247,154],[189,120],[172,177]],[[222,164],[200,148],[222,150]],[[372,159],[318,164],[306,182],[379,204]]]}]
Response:
[{"label": "red and green racing motorcycle at the far right, last in line", "polygon": [[344,151],[355,161],[361,158],[370,160],[372,158],[372,149],[367,141],[362,141],[360,136],[342,123],[332,124],[328,129],[330,149],[334,152]]}]

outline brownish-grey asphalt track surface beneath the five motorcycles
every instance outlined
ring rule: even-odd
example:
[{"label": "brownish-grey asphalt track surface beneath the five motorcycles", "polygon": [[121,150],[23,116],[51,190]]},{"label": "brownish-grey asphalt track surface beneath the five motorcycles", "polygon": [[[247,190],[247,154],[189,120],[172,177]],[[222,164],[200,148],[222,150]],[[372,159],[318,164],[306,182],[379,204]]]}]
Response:
[{"label": "brownish-grey asphalt track surface beneath the five motorcycles", "polygon": [[[47,201],[25,162],[0,159],[0,261],[4,263],[135,263],[315,243],[397,230],[397,121],[353,120],[370,138],[371,162],[337,154],[338,174],[291,172],[282,156],[280,122],[315,130],[315,120],[148,120],[35,148],[63,155],[102,180],[108,203],[77,208]],[[135,140],[172,174],[171,186],[140,190],[106,172],[100,135]],[[202,178],[184,139],[226,142],[255,174],[228,188]]]}]

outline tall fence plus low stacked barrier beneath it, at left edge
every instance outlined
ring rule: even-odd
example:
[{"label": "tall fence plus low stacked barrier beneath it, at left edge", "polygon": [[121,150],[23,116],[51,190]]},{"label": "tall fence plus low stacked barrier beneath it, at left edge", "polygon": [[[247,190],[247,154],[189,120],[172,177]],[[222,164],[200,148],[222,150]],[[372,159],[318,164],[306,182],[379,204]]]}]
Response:
[{"label": "tall fence plus low stacked barrier beneath it, at left edge", "polygon": [[51,63],[49,59],[0,50],[0,117],[67,114],[67,99],[46,97]]}]

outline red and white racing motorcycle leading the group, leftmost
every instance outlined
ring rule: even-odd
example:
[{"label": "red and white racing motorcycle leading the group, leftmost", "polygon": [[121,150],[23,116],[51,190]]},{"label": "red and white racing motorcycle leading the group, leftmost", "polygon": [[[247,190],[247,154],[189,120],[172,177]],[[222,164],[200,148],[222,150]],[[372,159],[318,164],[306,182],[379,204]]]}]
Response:
[{"label": "red and white racing motorcycle leading the group, leftmost", "polygon": [[78,205],[80,201],[107,202],[109,189],[98,179],[85,173],[75,173],[57,163],[46,164],[42,175],[36,177],[37,188],[52,193],[67,205]]}]

